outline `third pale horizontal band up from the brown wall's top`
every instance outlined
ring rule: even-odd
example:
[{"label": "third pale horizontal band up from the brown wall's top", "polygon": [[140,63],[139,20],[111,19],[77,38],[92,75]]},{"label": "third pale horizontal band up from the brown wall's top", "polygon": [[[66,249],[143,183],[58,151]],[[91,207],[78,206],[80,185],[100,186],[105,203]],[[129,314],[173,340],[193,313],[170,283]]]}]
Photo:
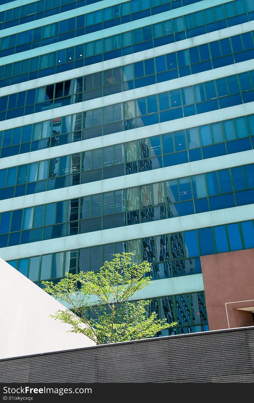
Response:
[{"label": "third pale horizontal band up from the brown wall's top", "polygon": [[212,112],[205,112],[198,115],[188,116],[163,123],[156,123],[155,125],[138,127],[137,129],[130,129],[128,131],[121,131],[118,133],[108,134],[106,136],[95,137],[93,139],[76,141],[75,143],[68,143],[59,145],[57,147],[44,148],[24,154],[17,154],[15,156],[5,157],[0,159],[0,169],[8,168],[10,166],[24,165],[31,162],[43,161],[50,158],[56,158],[68,154],[75,154],[82,151],[95,150],[96,148],[107,147],[109,145],[121,144],[126,141],[143,139],[145,137],[152,137],[159,134],[167,133],[168,131],[178,131],[183,129],[190,129],[191,127],[208,125],[227,119],[233,119],[240,116],[248,116],[254,114],[254,102],[248,104],[241,104],[230,106],[229,108],[214,110]]}]

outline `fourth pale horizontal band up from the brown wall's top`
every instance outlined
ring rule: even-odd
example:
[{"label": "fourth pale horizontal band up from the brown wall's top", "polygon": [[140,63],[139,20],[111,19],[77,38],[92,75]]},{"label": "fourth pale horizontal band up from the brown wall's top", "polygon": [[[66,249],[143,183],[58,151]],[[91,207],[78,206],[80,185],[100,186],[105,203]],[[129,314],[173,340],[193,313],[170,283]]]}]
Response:
[{"label": "fourth pale horizontal band up from the brown wall's top", "polygon": [[173,89],[188,87],[190,85],[223,78],[225,77],[225,70],[227,77],[233,74],[244,73],[252,69],[253,60],[246,60],[244,62],[231,64],[230,66],[227,66],[227,69],[225,69],[225,67],[219,67],[217,69],[210,70],[209,73],[207,71],[203,71],[202,73],[196,73],[193,75],[164,81],[162,83],[151,84],[147,85],[146,87],[130,89],[128,91],[123,91],[101,98],[95,98],[89,101],[78,102],[77,104],[66,105],[60,108],[44,110],[42,112],[4,120],[1,122],[1,130],[30,125],[31,123],[42,122],[43,120],[50,120],[58,118],[59,116],[68,116],[70,114],[76,114],[82,111],[102,108],[103,106],[119,104],[121,102],[128,102],[134,99],[154,95],[156,93],[171,91]]}]

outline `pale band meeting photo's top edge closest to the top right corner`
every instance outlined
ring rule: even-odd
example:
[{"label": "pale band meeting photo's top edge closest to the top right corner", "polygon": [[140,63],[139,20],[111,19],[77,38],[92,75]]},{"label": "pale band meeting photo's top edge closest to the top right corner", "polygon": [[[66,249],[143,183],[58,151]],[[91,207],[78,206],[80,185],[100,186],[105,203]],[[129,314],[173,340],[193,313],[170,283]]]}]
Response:
[{"label": "pale band meeting photo's top edge closest to the top right corner", "polygon": [[[227,3],[231,0],[224,0],[223,3]],[[183,14],[192,13],[195,11],[203,10],[204,8],[209,8],[211,6],[217,6],[221,4],[220,0],[204,0],[204,2],[190,4],[189,6],[185,6],[185,12],[183,13],[181,10],[183,8],[176,8],[175,10],[162,12],[160,14],[152,15],[150,17],[145,17],[142,19],[138,19],[136,21],[130,21],[129,23],[120,24],[116,27],[111,27],[107,29],[102,29],[101,31],[96,31],[93,33],[88,33],[83,36],[79,36],[76,38],[66,39],[65,41],[56,42],[54,44],[50,44],[47,46],[41,46],[40,48],[35,48],[31,50],[27,50],[25,52],[15,53],[9,56],[4,56],[0,59],[0,65],[8,64],[12,62],[17,62],[18,60],[27,59],[30,57],[39,56],[41,54],[47,54],[50,52],[55,52],[56,50],[69,48],[72,46],[80,45],[86,42],[90,42],[93,40],[101,39],[107,36],[116,35],[118,33],[123,33],[126,31],[130,31],[132,29],[145,27],[146,25],[155,24],[161,21],[165,21],[167,19],[171,19],[173,17],[180,17]],[[188,7],[188,9],[187,9]],[[186,12],[188,10],[188,12]],[[39,20],[38,20],[39,21]],[[22,25],[21,25],[22,26]]]}]

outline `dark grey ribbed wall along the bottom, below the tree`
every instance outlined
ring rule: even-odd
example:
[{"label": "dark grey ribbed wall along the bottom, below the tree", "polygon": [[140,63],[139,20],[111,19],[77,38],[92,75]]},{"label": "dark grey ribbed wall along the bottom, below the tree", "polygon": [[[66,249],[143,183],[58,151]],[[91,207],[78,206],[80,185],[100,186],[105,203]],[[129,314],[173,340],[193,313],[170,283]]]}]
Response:
[{"label": "dark grey ribbed wall along the bottom, below the tree", "polygon": [[0,382],[254,382],[254,327],[3,359]]}]

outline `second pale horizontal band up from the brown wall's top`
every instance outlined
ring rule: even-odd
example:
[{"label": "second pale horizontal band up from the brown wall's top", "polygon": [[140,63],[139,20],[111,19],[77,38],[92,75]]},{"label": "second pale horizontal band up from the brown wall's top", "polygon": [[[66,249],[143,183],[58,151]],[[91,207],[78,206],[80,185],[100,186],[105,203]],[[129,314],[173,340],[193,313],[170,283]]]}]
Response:
[{"label": "second pale horizontal band up from the brown wall's top", "polygon": [[235,154],[208,158],[206,160],[187,162],[186,164],[167,166],[166,168],[137,172],[131,175],[102,179],[101,181],[83,183],[82,185],[62,187],[61,189],[0,200],[0,212],[18,210],[19,208],[59,202],[61,200],[126,189],[147,183],[167,181],[169,179],[177,179],[189,175],[213,172],[218,169],[226,169],[252,163],[254,163],[253,150],[242,151]]}]

